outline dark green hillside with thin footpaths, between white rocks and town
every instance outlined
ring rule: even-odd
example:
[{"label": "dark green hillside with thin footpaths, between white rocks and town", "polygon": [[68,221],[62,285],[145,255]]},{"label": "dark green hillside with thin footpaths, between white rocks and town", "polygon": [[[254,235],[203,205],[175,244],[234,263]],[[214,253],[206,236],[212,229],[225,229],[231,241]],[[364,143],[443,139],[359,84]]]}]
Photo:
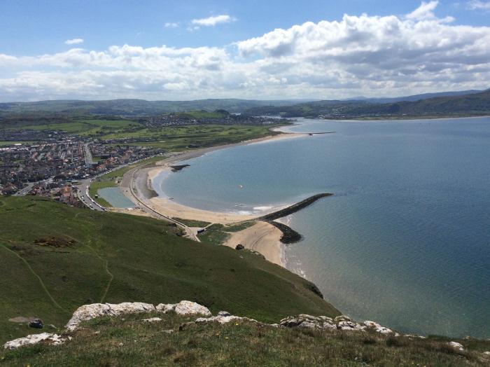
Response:
[{"label": "dark green hillside with thin footpaths, between white rocks and town", "polygon": [[[311,283],[261,256],[197,244],[155,219],[10,197],[0,199],[0,227],[0,342],[35,332],[12,317],[62,326],[76,307],[101,301],[188,299],[263,321],[337,314]],[[50,236],[76,244],[34,244]]]}]

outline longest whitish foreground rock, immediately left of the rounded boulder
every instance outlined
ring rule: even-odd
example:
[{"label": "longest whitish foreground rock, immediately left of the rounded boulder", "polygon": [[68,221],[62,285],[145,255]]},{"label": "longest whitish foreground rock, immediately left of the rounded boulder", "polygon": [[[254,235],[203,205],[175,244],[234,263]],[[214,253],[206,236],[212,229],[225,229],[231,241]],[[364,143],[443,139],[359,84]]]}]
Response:
[{"label": "longest whitish foreground rock, immediately left of the rounded boulder", "polygon": [[118,304],[92,303],[83,305],[73,313],[70,321],[66,324],[68,331],[78,328],[81,322],[102,316],[119,316],[121,314],[138,314],[155,311],[155,306],[150,303],[125,302]]}]

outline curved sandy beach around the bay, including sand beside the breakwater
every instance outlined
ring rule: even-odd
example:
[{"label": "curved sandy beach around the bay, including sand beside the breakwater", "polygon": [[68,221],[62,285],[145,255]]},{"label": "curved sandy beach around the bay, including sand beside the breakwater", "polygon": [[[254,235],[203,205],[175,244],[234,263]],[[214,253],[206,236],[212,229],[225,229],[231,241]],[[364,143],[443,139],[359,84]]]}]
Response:
[{"label": "curved sandy beach around the bay, including sand beside the breakwater", "polygon": [[[296,137],[307,137],[306,133],[290,133],[281,132],[281,127],[274,127],[271,131],[279,132],[280,134],[269,135],[258,139],[251,139],[247,141],[241,141],[235,144],[225,144],[222,146],[214,146],[210,148],[197,149],[195,151],[183,151],[179,153],[173,153],[169,157],[162,159],[155,163],[153,167],[137,168],[126,172],[121,188],[123,193],[130,198],[135,204],[143,203],[145,206],[150,207],[153,212],[156,212],[167,218],[179,218],[188,219],[194,221],[205,221],[209,223],[219,223],[222,225],[230,225],[233,223],[239,223],[243,221],[255,221],[253,226],[245,228],[237,232],[228,232],[230,237],[223,243],[225,246],[235,249],[237,244],[241,244],[246,249],[257,251],[262,254],[267,261],[275,263],[277,265],[286,268],[286,260],[284,254],[284,244],[281,243],[281,237],[283,233],[281,230],[273,226],[271,223],[260,221],[259,218],[270,212],[275,212],[281,208],[270,208],[267,212],[260,214],[237,214],[232,212],[212,212],[209,210],[197,209],[194,207],[188,207],[182,205],[179,202],[175,202],[172,198],[165,198],[158,196],[153,188],[153,181],[155,177],[162,174],[162,172],[172,172],[172,165],[176,165],[177,162],[183,160],[189,160],[192,158],[200,157],[206,153],[218,151],[223,148],[230,148],[232,146],[242,146],[249,144],[260,144],[263,142],[276,141],[282,139],[293,139]],[[130,186],[134,190],[129,190]],[[136,193],[133,193],[136,191]],[[136,198],[134,197],[136,196]],[[128,212],[129,214],[129,212]],[[201,228],[186,228],[186,231],[197,239],[197,230]],[[226,229],[223,229],[226,231]]]}]

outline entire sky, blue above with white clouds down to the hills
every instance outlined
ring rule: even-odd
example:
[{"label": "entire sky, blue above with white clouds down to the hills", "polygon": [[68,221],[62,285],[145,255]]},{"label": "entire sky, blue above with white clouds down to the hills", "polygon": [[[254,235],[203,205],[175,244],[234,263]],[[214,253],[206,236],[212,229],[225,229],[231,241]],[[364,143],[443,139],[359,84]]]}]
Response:
[{"label": "entire sky, blue above with white clouds down to the hills", "polygon": [[0,102],[490,88],[490,0],[0,0]]}]

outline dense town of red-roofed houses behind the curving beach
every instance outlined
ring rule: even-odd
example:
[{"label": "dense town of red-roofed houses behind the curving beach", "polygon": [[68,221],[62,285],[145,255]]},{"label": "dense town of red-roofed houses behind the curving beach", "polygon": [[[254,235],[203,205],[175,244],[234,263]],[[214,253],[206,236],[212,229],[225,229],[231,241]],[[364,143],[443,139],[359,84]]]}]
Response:
[{"label": "dense town of red-roofed houses behind the curving beach", "polygon": [[78,180],[162,153],[144,146],[114,146],[64,138],[0,148],[0,195],[37,195],[79,206]]}]

